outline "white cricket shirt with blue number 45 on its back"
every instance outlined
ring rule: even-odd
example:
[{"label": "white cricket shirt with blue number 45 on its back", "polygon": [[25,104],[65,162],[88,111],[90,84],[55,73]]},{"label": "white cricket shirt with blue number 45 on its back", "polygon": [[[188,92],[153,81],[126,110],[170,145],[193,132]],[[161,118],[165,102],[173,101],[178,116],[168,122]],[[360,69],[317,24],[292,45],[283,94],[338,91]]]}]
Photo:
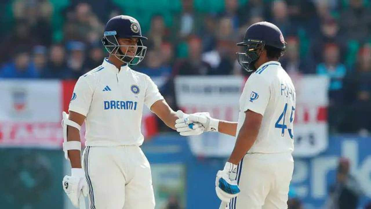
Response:
[{"label": "white cricket shirt with blue number 45 on its back", "polygon": [[240,97],[237,136],[251,110],[263,116],[256,141],[250,153],[292,152],[295,88],[291,78],[276,61],[262,64],[250,75]]}]

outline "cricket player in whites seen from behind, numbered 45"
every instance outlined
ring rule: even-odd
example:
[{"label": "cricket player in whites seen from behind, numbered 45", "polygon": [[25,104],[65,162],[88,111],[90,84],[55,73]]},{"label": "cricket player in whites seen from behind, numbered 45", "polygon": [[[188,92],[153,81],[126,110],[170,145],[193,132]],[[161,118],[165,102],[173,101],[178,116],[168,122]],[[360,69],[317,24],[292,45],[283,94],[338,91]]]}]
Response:
[{"label": "cricket player in whites seen from behind, numbered 45", "polygon": [[293,173],[295,88],[281,67],[285,50],[280,29],[269,22],[251,25],[237,60],[254,71],[239,100],[238,122],[211,118],[209,113],[185,115],[176,121],[180,135],[199,134],[189,127],[200,122],[205,131],[237,136],[224,169],[216,175],[216,194],[229,209],[286,209]]}]

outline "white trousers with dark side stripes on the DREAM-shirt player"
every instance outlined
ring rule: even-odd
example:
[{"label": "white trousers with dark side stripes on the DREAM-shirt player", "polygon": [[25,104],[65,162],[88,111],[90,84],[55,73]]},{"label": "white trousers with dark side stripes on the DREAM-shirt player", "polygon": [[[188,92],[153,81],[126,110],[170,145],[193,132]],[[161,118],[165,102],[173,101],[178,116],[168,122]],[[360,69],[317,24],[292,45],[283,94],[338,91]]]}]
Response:
[{"label": "white trousers with dark side stripes on the DREAM-shirt player", "polygon": [[138,146],[86,147],[89,209],[154,209],[151,167]]}]

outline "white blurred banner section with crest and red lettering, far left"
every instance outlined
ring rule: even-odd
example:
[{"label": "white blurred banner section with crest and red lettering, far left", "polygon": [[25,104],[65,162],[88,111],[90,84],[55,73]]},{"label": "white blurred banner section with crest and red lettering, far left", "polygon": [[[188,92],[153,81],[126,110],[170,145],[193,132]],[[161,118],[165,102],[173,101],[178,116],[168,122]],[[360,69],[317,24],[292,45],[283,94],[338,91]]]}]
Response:
[{"label": "white blurred banner section with crest and red lettering, far left", "polygon": [[58,80],[0,80],[0,146],[60,148]]}]

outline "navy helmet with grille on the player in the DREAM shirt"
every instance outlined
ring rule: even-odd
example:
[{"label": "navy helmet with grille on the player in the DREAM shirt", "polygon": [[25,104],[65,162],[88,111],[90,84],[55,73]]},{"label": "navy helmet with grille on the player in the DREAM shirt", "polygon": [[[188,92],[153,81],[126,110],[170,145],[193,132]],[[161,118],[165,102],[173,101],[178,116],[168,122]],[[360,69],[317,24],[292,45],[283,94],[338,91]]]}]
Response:
[{"label": "navy helmet with grille on the player in the DREAM shirt", "polygon": [[[138,42],[137,45],[119,45],[119,38],[138,38]],[[138,20],[131,16],[119,15],[108,20],[102,43],[109,54],[126,64],[137,65],[143,60],[147,51],[147,46],[143,45],[142,40],[147,40],[147,38],[142,36]],[[121,51],[121,46],[127,47],[126,52]],[[127,55],[129,47],[137,47],[134,56]]]}]

